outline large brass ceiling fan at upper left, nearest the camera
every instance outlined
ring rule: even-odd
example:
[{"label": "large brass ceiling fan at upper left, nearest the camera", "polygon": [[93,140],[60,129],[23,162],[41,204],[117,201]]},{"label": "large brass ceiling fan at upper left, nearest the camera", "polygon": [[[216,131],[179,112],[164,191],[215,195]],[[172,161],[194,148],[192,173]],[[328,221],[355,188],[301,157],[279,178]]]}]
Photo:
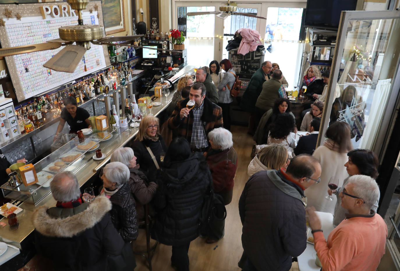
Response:
[{"label": "large brass ceiling fan at upper left, nearest the camera", "polygon": [[[74,72],[86,50],[90,49],[90,44],[115,45],[112,42],[129,42],[144,35],[104,37],[104,27],[96,24],[83,24],[81,10],[86,9],[89,0],[67,0],[71,8],[77,11],[78,25],[62,26],[58,28],[59,39],[49,40],[45,43],[30,44],[0,49],[0,58],[17,54],[26,54],[43,50],[54,50],[65,46],[60,52],[48,60],[44,67],[58,72]],[[75,42],[75,44],[73,44]],[[121,43],[121,45],[128,45]],[[129,45],[132,46],[132,45]],[[142,46],[132,46],[143,48]],[[146,48],[146,47],[144,47]],[[154,49],[154,48],[151,48]],[[174,50],[157,49],[162,51],[178,52]]]}]

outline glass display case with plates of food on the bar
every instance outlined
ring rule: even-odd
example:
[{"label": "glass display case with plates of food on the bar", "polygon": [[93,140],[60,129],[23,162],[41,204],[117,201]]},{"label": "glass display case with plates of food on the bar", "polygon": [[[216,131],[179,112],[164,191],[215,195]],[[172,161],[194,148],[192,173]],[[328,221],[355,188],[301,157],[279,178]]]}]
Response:
[{"label": "glass display case with plates of food on the bar", "polygon": [[82,168],[90,159],[99,159],[96,157],[96,149],[106,147],[120,134],[119,129],[112,129],[105,131],[93,129],[83,139],[75,137],[34,164],[38,177],[37,183],[29,186],[25,186],[22,183],[17,187],[12,187],[9,182],[4,183],[0,187],[4,197],[36,205],[50,193],[50,181],[56,173],[62,171],[71,171],[74,173]]}]

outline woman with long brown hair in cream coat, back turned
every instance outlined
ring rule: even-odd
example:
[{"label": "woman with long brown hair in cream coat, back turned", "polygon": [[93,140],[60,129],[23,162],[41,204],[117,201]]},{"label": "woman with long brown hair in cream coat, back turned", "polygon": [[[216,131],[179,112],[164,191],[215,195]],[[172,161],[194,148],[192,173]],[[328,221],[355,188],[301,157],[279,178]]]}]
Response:
[{"label": "woman with long brown hair in cream coat, back turned", "polygon": [[307,206],[314,206],[317,211],[334,213],[336,198],[333,201],[325,199],[326,189],[331,177],[339,179],[338,186],[343,186],[343,180],[348,176],[346,167],[347,153],[353,148],[350,141],[350,126],[346,122],[334,122],[326,130],[327,139],[323,146],[316,148],[314,156],[321,164],[321,183],[312,185],[304,194]]}]

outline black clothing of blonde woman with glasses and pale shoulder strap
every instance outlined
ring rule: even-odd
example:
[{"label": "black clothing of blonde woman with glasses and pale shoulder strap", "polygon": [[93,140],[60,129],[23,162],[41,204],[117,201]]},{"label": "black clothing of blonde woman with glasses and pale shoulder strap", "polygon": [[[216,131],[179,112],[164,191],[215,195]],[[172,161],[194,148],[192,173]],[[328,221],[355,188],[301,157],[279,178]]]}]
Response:
[{"label": "black clothing of blonde woman with glasses and pale shoulder strap", "polygon": [[[160,128],[158,128],[160,129]],[[167,152],[167,146],[165,145],[164,139],[161,135],[159,135],[158,141],[154,142],[149,139],[143,139],[143,141],[133,141],[132,149],[136,156],[136,163],[140,166],[140,171],[142,171],[148,177],[149,181],[154,181],[156,177],[157,168],[154,165],[154,161],[151,159],[150,153],[146,149],[150,147],[154,156],[156,156],[156,160],[159,167],[162,167],[162,163],[160,161],[160,154]]]}]

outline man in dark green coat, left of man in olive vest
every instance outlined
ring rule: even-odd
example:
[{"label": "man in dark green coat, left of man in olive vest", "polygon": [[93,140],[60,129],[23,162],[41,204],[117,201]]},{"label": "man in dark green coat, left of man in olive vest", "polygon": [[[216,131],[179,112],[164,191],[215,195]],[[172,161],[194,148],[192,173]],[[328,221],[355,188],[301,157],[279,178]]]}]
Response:
[{"label": "man in dark green coat, left of man in olive vest", "polygon": [[262,90],[262,84],[270,79],[269,73],[272,70],[272,63],[270,61],[264,61],[261,64],[261,68],[251,77],[248,82],[246,91],[243,93],[242,100],[240,101],[240,107],[250,113],[248,134],[254,135],[256,127],[254,127],[254,117],[256,113],[256,101]]}]

